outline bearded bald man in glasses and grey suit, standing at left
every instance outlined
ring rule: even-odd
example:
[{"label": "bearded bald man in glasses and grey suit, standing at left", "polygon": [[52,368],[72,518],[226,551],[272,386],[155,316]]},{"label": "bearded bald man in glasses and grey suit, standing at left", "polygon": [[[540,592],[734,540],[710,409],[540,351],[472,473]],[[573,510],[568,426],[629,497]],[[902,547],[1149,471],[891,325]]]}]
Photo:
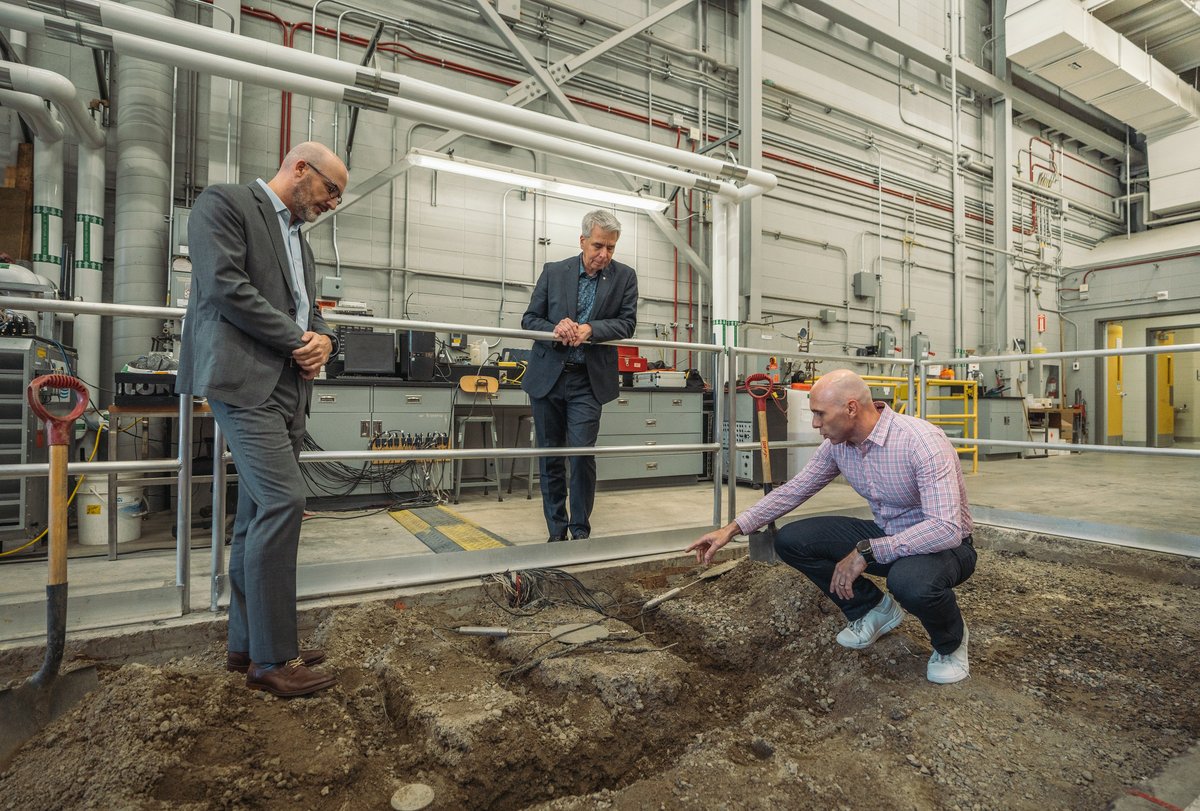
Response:
[{"label": "bearded bald man in glasses and grey suit, standing at left", "polygon": [[314,302],[300,227],[337,208],[347,174],[325,146],[300,144],[270,181],[204,190],[187,229],[192,290],[178,389],[209,398],[238,465],[226,666],[276,696],[336,681],[311,669],[325,654],[300,650],[296,630],[298,458],[312,380],[337,341]]}]

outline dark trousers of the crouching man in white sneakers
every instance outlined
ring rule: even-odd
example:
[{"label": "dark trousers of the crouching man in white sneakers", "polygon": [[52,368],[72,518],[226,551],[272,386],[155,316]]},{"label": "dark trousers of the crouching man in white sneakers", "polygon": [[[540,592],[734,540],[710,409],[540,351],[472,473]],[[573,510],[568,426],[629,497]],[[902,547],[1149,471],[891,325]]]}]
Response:
[{"label": "dark trousers of the crouching man in white sneakers", "polygon": [[[864,537],[882,537],[874,521],[844,516],[802,518],[782,527],[775,539],[775,552],[784,563],[799,569],[833,600],[848,620],[871,611],[883,594],[866,577],[854,579],[854,596],[842,600],[829,591],[833,570]],[[914,554],[888,564],[866,566],[870,575],[887,577],[892,596],[929,632],[934,649],[952,654],[962,643],[962,612],[954,597],[954,587],[974,572],[976,551],[971,539],[961,546],[930,554]]]}]

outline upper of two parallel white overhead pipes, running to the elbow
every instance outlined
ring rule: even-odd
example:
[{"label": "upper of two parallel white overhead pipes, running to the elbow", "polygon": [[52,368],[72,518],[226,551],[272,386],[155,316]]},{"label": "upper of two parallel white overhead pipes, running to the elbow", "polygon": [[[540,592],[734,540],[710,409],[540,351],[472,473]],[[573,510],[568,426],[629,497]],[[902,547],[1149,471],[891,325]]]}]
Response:
[{"label": "upper of two parallel white overhead pipes, running to the elbow", "polygon": [[[28,0],[19,0],[26,5]],[[25,11],[19,22],[16,12],[19,8],[10,8],[14,12],[5,24],[17,28],[30,29],[30,14],[36,14],[44,19],[40,12]],[[7,13],[7,12],[6,12]],[[101,40],[110,38],[112,34],[92,25],[98,20],[102,25],[114,31],[137,35],[138,38],[152,38],[167,42],[178,48],[196,49],[204,54],[221,55],[239,61],[259,65],[264,68],[275,68],[283,74],[295,77],[322,76],[329,82],[354,88],[356,92],[370,101],[371,96],[385,95],[410,100],[431,108],[445,112],[457,112],[479,120],[492,124],[503,124],[516,130],[527,130],[534,133],[557,136],[580,144],[588,144],[594,148],[612,150],[625,155],[638,156],[649,161],[658,161],[668,166],[678,166],[695,172],[704,173],[714,178],[727,178],[736,181],[744,181],[744,197],[762,194],[775,187],[778,180],[775,175],[761,169],[750,169],[733,163],[719,161],[706,155],[686,152],[672,146],[653,144],[640,138],[624,136],[616,132],[592,127],[575,121],[557,119],[541,113],[512,107],[503,102],[491,101],[473,96],[467,92],[451,90],[446,86],[421,82],[400,73],[384,71],[371,71],[352,62],[343,62],[329,56],[305,53],[293,48],[286,48],[274,43],[260,42],[250,37],[236,36],[194,25],[176,19],[161,18],[144,13],[130,5],[119,5],[109,0],[76,0],[64,4],[62,13],[74,20],[76,41],[89,44]],[[44,30],[43,24],[35,24],[34,30]],[[61,31],[49,31],[47,34],[66,38]],[[173,52],[174,53],[174,52]],[[146,56],[154,59],[152,56]],[[209,71],[218,72],[218,71]],[[224,73],[222,73],[224,74]],[[226,74],[227,76],[227,74]],[[238,77],[230,77],[238,78]],[[252,80],[252,79],[251,79]],[[274,83],[254,80],[256,84],[277,86]],[[302,90],[296,90],[304,92]],[[318,98],[325,96],[316,95]],[[338,97],[335,101],[344,101]],[[424,119],[432,120],[432,119]],[[476,127],[472,128],[473,131]],[[690,186],[689,186],[690,187]]]}]

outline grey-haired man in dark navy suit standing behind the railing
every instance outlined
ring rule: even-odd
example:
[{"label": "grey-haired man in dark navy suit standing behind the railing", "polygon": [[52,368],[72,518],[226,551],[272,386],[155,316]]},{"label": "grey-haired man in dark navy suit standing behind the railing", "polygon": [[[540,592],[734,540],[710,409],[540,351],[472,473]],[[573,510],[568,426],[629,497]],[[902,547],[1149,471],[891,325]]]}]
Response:
[{"label": "grey-haired man in dark navy suit standing behind the railing", "polygon": [[[535,341],[521,388],[529,395],[539,447],[590,447],[600,432],[600,407],[617,397],[617,348],[604,341],[629,338],[637,326],[637,275],[613,262],[620,221],[604,209],[583,217],[582,253],[542,268],[521,326],[553,332]],[[594,456],[571,457],[570,515],[566,457],[544,456],[541,507],[551,541],[592,534],[596,492]]]}]

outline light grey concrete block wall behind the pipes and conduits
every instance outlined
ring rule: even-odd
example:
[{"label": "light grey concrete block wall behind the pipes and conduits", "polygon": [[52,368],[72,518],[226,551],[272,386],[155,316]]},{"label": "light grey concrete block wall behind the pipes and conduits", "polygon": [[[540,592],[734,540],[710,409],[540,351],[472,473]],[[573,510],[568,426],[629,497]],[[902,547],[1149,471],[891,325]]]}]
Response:
[{"label": "light grey concrete block wall behind the pipes and conduits", "polygon": [[[503,98],[509,83],[526,76],[518,60],[478,19],[470,4],[374,0],[361,7],[379,10],[402,20],[384,37],[398,42],[395,50],[400,53],[382,50],[374,58],[373,64],[382,70],[492,100]],[[308,17],[305,10],[286,2],[256,4],[256,8],[277,14],[289,25]],[[577,8],[575,14],[544,8],[535,2],[526,4],[526,17],[516,30],[536,56],[557,61],[647,13],[644,4],[640,2],[602,8],[577,4]],[[923,41],[940,47],[949,41],[942,2],[923,0],[875,11],[895,19],[900,28]],[[966,4],[965,55],[982,54],[990,36],[985,31],[990,22],[988,13],[982,0]],[[887,325],[895,331],[902,347],[907,347],[912,331],[920,330],[931,337],[935,350],[946,352],[953,331],[953,229],[948,210],[949,96],[944,83],[928,70],[896,65],[894,56],[876,53],[860,37],[830,32],[828,26],[817,25],[811,13],[790,8],[786,14],[814,24],[793,25],[773,14],[763,34],[763,76],[788,90],[764,90],[766,150],[787,161],[767,158],[763,162],[766,168],[778,172],[784,182],[762,206],[762,229],[767,234],[761,236],[760,263],[752,269],[752,277],[761,293],[763,319],[788,319],[786,323],[791,326],[745,330],[746,342],[751,346],[773,342],[761,346],[781,350],[794,348],[792,340],[782,336],[794,336],[794,328],[808,320],[815,323],[820,310],[834,308],[839,312],[839,323],[815,330],[821,342],[816,346],[818,350],[845,348],[852,353],[853,348],[874,342],[877,325]],[[179,16],[192,19],[194,12],[181,7]],[[604,25],[604,20],[611,25]],[[323,12],[318,23],[334,26],[337,20],[332,13]],[[282,29],[275,22],[244,13],[241,24],[245,36],[272,43],[282,41]],[[697,5],[655,25],[653,36],[655,42],[703,50],[715,62],[736,65],[737,25],[736,13],[725,6]],[[368,36],[372,28],[361,14],[349,14],[343,26],[348,35],[358,37]],[[304,26],[296,31],[294,46],[308,50],[313,41],[318,53],[338,55],[332,38],[313,38]],[[31,62],[65,72],[80,89],[95,84],[90,52],[54,41],[38,41],[36,46],[31,42]],[[343,43],[340,58],[358,61],[361,48]],[[440,60],[466,66],[470,72],[446,70]],[[703,78],[708,88],[702,92],[694,80],[698,76],[697,64],[676,50],[638,40],[589,64],[584,74],[569,83],[565,91],[595,104],[577,107],[593,126],[672,146],[678,143],[686,149],[685,137],[680,138],[671,127],[659,126],[671,122],[678,112],[685,127],[704,127],[706,142],[697,144],[702,146],[709,137],[737,131],[740,113],[736,74],[704,62]],[[182,203],[192,196],[185,182],[190,180],[196,187],[210,182],[210,161],[220,166],[223,155],[221,133],[209,132],[208,90],[215,80],[221,79],[199,77],[193,98],[191,77],[182,72],[180,76],[175,168],[176,197]],[[790,115],[782,112],[784,100],[790,104]],[[244,85],[236,155],[239,181],[269,178],[275,172],[280,160],[282,104],[281,91]],[[335,148],[340,152],[344,150],[348,132],[344,107],[311,102],[299,95],[292,96],[290,104],[293,145],[308,137],[311,112],[312,137],[325,142],[336,137]],[[610,107],[613,112],[608,112]],[[545,98],[529,108],[559,114]],[[659,125],[640,118],[649,118]],[[7,119],[7,122],[0,120],[0,131],[11,134],[11,116]],[[1018,169],[1028,167],[1028,155],[1022,163],[1020,154],[1021,149],[1028,149],[1027,139],[1040,136],[1034,122],[1018,124],[1010,154],[996,156],[991,146],[990,112],[971,101],[962,103],[961,130],[964,149],[978,156],[982,163],[1009,161]],[[360,113],[352,186],[391,167],[409,148],[428,145],[440,134],[419,121],[376,112]],[[192,145],[194,155],[188,155],[186,150]],[[738,149],[728,144],[721,154],[745,162]],[[1070,151],[1069,146],[1067,149]],[[611,173],[534,156],[484,138],[460,139],[455,150],[475,160],[617,185]],[[1087,155],[1079,157],[1092,160]],[[1078,175],[1074,179],[1081,181],[1058,180],[1063,193],[1094,208],[1111,205],[1112,178],[1082,162],[1063,160],[1062,163],[1072,166]],[[881,194],[874,185],[881,169],[887,190],[882,194],[882,215]],[[990,205],[988,185],[974,175],[964,178],[968,211],[982,212],[968,220],[966,234],[976,241],[986,241],[990,239],[984,222],[986,205]],[[670,190],[653,185],[652,193],[667,194]],[[690,221],[701,251],[707,252],[708,211],[703,196],[695,194],[692,200],[695,210],[690,216],[680,206],[679,227],[686,230]],[[545,197],[521,199],[504,187],[444,173],[434,185],[431,173],[414,170],[338,216],[336,227],[334,222],[322,223],[310,239],[320,263],[319,274],[340,274],[344,298],[371,302],[379,314],[516,326],[528,300],[529,286],[542,263],[577,251],[578,218],[587,208]],[[638,269],[643,294],[638,335],[656,336],[664,325],[682,325],[688,319],[686,263],[678,263],[683,281],[677,283],[673,247],[658,228],[642,215],[622,212],[620,216],[626,230],[618,258]],[[673,209],[668,216],[674,216]],[[875,235],[881,221],[887,235],[883,240]],[[1068,221],[1068,229],[1074,239],[1084,242],[1098,240],[1106,233],[1103,222],[1082,217]],[[112,232],[109,234],[112,239]],[[900,238],[907,238],[907,242]],[[1018,245],[1022,239],[1014,234]],[[804,240],[822,245],[814,246]],[[1009,298],[1014,322],[1027,324],[1036,316],[1037,302],[1033,294],[1026,292],[1022,274],[1014,274],[1009,290],[997,292],[990,257],[968,251],[965,268],[967,347],[985,347],[992,338],[989,323],[997,295]],[[847,277],[858,271],[878,275],[877,299],[847,296]],[[1052,284],[1046,283],[1045,288]],[[691,295],[704,301],[712,298],[708,289],[698,287],[692,288]],[[1050,293],[1043,294],[1046,304],[1052,304],[1051,299]],[[901,322],[901,307],[914,310],[917,320]],[[1051,331],[1056,329],[1054,323]],[[763,338],[763,334],[773,337]],[[688,337],[683,326],[679,336]],[[701,331],[695,337],[706,340],[708,336]]]}]

